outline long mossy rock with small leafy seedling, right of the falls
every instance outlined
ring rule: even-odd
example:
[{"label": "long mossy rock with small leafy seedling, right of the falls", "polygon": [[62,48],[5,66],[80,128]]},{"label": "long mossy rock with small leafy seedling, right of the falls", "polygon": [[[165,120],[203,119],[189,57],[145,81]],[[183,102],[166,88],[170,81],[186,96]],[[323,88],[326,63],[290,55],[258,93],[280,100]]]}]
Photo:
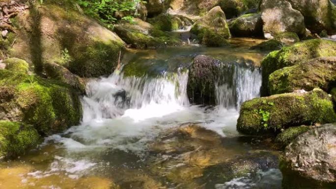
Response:
[{"label": "long mossy rock with small leafy seedling, right of the falls", "polygon": [[335,121],[331,98],[321,89],[315,89],[307,93],[256,98],[243,103],[237,130],[251,135],[271,134],[288,127]]}]

